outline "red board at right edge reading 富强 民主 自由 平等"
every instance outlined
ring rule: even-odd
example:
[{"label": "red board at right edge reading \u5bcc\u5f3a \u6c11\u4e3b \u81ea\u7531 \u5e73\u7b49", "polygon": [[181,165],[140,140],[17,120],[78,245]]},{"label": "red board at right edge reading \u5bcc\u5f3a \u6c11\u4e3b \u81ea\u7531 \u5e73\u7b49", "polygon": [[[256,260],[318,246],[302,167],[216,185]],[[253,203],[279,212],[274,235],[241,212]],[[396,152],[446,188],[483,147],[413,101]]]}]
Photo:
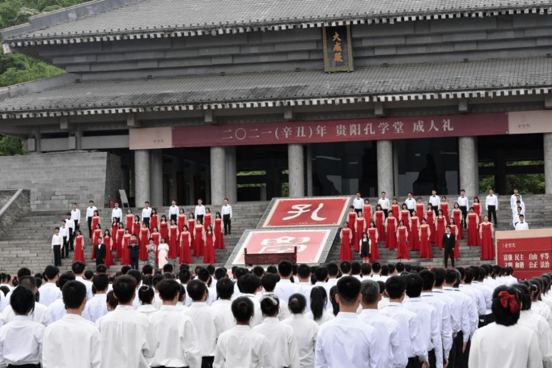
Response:
[{"label": "red board at right edge reading \u5bcc\u5f3a \u6c11\u4e3b \u81ea\u7531 \u5e73\u7b49", "polygon": [[497,239],[496,248],[497,264],[502,267],[511,266],[518,280],[530,279],[552,270],[550,237]]}]

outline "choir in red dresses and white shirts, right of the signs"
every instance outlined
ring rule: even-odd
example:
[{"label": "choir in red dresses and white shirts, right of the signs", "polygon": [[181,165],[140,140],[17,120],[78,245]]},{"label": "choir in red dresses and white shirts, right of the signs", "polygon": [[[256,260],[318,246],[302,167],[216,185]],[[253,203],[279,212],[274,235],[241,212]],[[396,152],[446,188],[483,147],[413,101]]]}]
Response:
[{"label": "choir in red dresses and white shirts, right of the signs", "polygon": [[[420,258],[433,258],[432,243],[445,250],[445,262],[449,256],[460,257],[458,241],[464,238],[468,246],[481,246],[481,260],[495,259],[494,233],[497,226],[496,211],[498,196],[492,189],[485,199],[487,215],[481,217],[481,203],[477,196],[468,207],[469,200],[465,191],[460,191],[457,201],[451,206],[446,196],[439,196],[435,190],[426,203],[422,197],[413,199],[408,193],[405,201],[399,205],[394,198],[392,202],[381,192],[381,198],[374,207],[369,199],[362,199],[357,193],[353,205],[349,208],[347,221],[340,233],[340,260],[352,260],[353,252],[360,253],[363,262],[375,262],[379,259],[379,243],[385,243],[386,249],[397,249],[397,259],[410,259],[409,250],[420,252]],[[510,199],[512,223],[514,230],[528,230],[524,219],[525,204],[514,189]],[[494,225],[490,222],[494,216]],[[450,254],[443,243],[451,237],[453,247]],[[352,248],[352,249],[351,249]]]}]

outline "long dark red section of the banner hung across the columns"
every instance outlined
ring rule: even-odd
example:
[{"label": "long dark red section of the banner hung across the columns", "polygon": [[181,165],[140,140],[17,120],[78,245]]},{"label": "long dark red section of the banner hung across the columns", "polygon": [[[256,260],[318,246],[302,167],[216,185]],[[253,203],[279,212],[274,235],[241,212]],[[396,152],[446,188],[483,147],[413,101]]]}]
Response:
[{"label": "long dark red section of the banner hung across the columns", "polygon": [[327,143],[508,134],[506,113],[195,125],[173,128],[173,147]]}]

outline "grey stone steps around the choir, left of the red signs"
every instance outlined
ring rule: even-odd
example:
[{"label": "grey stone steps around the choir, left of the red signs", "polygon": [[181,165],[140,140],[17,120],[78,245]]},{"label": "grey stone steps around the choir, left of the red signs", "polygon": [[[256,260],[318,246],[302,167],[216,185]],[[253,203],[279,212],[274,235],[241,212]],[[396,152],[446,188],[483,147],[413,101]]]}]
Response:
[{"label": "grey stone steps around the choir, left of the red signs", "polygon": [[[225,237],[226,249],[216,250],[215,266],[222,266],[226,259],[230,256],[241,234],[246,229],[255,228],[262,217],[268,202],[240,202],[232,205],[232,234]],[[219,207],[209,206],[215,213],[220,211]],[[184,207],[188,214],[195,207]],[[168,215],[168,207],[156,208],[160,215]],[[82,211],[83,209],[81,209]],[[6,273],[17,273],[21,267],[28,267],[33,273],[44,271],[44,268],[49,264],[54,264],[54,253],[51,251],[51,237],[54,233],[54,228],[60,226],[61,220],[66,218],[65,214],[68,210],[59,211],[33,211],[19,218],[18,221],[7,231],[7,236],[0,240],[0,271]],[[102,223],[110,223],[109,216],[111,209],[99,209],[102,216]],[[123,211],[126,212],[126,209]],[[135,214],[141,214],[140,210],[132,209]],[[88,269],[93,269],[95,264],[89,261],[91,242],[88,241],[88,228],[86,223],[82,223],[81,230],[86,238],[85,255],[87,257]],[[62,260],[61,270],[66,271],[71,269],[71,261],[73,253],[69,254],[71,259]],[[194,264],[202,265],[203,258],[193,258]],[[178,260],[171,260],[171,263],[178,267]],[[144,262],[140,262],[140,267]],[[110,272],[118,271],[120,262],[115,260],[115,264],[110,267]]]}]

